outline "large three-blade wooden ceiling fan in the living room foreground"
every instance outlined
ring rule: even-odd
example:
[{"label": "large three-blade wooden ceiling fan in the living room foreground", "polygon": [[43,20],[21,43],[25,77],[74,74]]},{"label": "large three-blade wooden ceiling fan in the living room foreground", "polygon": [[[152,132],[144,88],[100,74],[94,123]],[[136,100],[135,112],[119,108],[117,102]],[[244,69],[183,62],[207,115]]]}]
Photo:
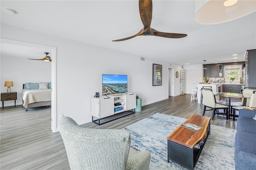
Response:
[{"label": "large three-blade wooden ceiling fan in the living room foreground", "polygon": [[138,32],[134,36],[130,36],[119,40],[113,40],[113,42],[129,40],[136,36],[159,36],[165,38],[184,38],[187,36],[187,34],[159,32],[150,27],[152,20],[152,0],[139,0],[139,9],[140,18],[142,24],[144,25],[144,28],[142,28],[142,30],[140,30],[140,32]]}]

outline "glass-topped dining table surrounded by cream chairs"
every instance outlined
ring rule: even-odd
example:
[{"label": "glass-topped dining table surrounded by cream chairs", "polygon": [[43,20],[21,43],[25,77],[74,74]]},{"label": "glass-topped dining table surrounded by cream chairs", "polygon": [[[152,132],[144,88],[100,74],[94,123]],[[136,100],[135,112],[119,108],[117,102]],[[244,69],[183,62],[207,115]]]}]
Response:
[{"label": "glass-topped dining table surrounded by cream chairs", "polygon": [[[246,99],[248,97],[243,97],[242,93],[225,93],[225,92],[219,92],[215,94],[215,96],[226,97],[226,101],[216,101],[218,104],[227,105],[228,106],[228,119],[230,119],[230,116],[234,116],[232,114],[232,107],[233,106],[245,106],[246,105]],[[244,99],[243,102],[231,102],[231,98],[239,98]]]}]

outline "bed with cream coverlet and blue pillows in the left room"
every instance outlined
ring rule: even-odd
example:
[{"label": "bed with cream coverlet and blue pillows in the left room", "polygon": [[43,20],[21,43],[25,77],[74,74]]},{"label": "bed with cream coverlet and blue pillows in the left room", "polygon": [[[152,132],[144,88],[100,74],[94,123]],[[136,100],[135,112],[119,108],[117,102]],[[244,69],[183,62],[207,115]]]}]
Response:
[{"label": "bed with cream coverlet and blue pillows in the left room", "polygon": [[22,101],[23,106],[28,108],[52,105],[51,83],[26,83],[23,84]]}]

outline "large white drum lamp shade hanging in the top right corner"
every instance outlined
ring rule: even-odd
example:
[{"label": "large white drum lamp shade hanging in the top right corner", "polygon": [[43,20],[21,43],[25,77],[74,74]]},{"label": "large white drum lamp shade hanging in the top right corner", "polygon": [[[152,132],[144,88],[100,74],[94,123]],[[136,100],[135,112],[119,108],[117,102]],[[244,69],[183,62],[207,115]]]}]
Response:
[{"label": "large white drum lamp shade hanging in the top right corner", "polygon": [[195,19],[200,24],[220,24],[256,11],[255,0],[196,0]]}]

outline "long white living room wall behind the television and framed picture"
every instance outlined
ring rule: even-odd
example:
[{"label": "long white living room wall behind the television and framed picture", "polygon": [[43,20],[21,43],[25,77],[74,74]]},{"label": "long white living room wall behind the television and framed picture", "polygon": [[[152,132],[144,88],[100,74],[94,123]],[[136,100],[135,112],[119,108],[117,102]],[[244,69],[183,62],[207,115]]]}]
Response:
[{"label": "long white living room wall behind the television and framed picture", "polygon": [[[90,122],[92,120],[89,110],[91,97],[96,91],[102,93],[102,74],[127,74],[128,91],[141,97],[142,105],[168,99],[170,63],[150,58],[140,61],[138,55],[32,32],[6,24],[1,24],[1,38],[56,47],[57,119],[63,114],[72,117],[78,124]],[[152,86],[153,63],[162,65],[161,86]],[[1,64],[8,63],[1,62]],[[181,66],[172,64],[172,68],[176,72],[181,69]],[[6,73],[3,72],[3,74]],[[1,77],[1,83],[2,81],[4,80]],[[175,79],[175,93],[180,94],[179,79]]]}]

